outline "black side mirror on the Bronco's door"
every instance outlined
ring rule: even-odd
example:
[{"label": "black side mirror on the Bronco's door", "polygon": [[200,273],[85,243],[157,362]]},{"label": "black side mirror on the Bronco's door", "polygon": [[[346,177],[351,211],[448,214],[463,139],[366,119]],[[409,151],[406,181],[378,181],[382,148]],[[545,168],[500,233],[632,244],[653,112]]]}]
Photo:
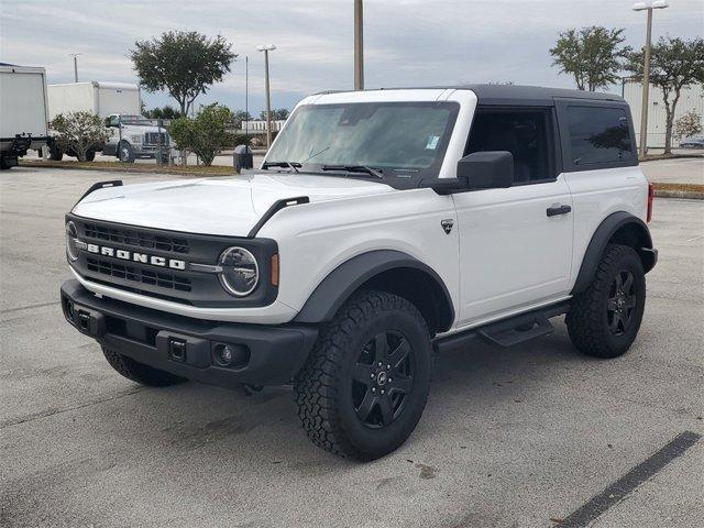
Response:
[{"label": "black side mirror on the Bronco's door", "polygon": [[468,189],[502,189],[514,185],[514,155],[508,151],[473,152],[458,162],[458,179]]}]

